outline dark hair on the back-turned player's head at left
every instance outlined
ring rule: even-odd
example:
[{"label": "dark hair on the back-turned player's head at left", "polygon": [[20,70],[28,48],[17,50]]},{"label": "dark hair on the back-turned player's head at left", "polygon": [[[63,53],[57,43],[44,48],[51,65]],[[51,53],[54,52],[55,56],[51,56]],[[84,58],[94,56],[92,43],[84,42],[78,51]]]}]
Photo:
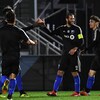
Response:
[{"label": "dark hair on the back-turned player's head at left", "polygon": [[14,23],[15,21],[15,13],[14,11],[8,11],[5,15],[5,18],[7,20],[8,23]]}]

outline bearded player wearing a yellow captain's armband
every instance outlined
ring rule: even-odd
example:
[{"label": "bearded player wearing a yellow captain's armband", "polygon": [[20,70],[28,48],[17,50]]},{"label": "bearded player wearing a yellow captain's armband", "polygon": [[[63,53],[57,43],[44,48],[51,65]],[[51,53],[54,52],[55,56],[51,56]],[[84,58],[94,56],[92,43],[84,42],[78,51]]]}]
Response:
[{"label": "bearded player wearing a yellow captain's armband", "polygon": [[80,76],[78,73],[78,50],[83,44],[83,35],[81,28],[75,24],[75,16],[69,13],[66,16],[66,25],[62,25],[54,31],[44,28],[48,34],[60,35],[63,39],[63,54],[57,76],[53,85],[53,90],[48,92],[48,96],[56,96],[59,86],[62,82],[63,75],[67,69],[70,69],[74,79],[75,92],[71,96],[80,96]]}]

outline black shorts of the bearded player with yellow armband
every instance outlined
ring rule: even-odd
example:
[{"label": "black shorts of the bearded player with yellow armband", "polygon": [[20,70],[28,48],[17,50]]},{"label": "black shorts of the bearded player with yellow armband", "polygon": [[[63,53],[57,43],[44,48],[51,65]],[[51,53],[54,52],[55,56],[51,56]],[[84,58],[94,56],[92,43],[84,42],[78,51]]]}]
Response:
[{"label": "black shorts of the bearded player with yellow armband", "polygon": [[75,53],[74,55],[68,54],[68,52],[64,52],[62,58],[60,60],[60,65],[58,70],[66,71],[70,70],[71,72],[79,71],[80,66],[78,66],[78,55]]}]

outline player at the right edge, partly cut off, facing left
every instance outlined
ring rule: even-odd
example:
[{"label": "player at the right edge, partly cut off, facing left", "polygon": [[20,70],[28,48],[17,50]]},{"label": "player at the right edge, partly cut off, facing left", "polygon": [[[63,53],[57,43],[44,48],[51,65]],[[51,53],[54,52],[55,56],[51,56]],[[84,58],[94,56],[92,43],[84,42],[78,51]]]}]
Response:
[{"label": "player at the right edge, partly cut off, facing left", "polygon": [[83,96],[88,96],[90,94],[90,90],[92,89],[92,86],[95,82],[95,75],[98,70],[100,70],[100,29],[99,29],[99,23],[100,18],[97,16],[92,15],[90,17],[89,26],[93,30],[93,42],[89,45],[88,48],[85,49],[89,50],[94,48],[95,51],[95,57],[92,61],[89,73],[88,73],[88,79],[87,79],[87,85],[85,88],[85,91],[80,92]]}]

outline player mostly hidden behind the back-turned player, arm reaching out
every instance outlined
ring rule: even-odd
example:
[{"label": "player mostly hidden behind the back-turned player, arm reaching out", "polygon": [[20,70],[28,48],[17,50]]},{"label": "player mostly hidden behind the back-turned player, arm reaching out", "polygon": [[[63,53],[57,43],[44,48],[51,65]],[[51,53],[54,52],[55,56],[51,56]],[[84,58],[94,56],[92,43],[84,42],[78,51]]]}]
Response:
[{"label": "player mostly hidden behind the back-turned player, arm reaching out", "polygon": [[[5,7],[4,8],[4,10],[3,10],[3,14],[4,14],[4,16],[6,15],[6,13],[8,12],[8,11],[13,11],[13,9],[10,7],[10,6],[7,6],[7,7]],[[31,26],[28,26],[28,27],[23,27],[22,29],[24,30],[24,31],[28,31],[28,30],[30,30],[30,29],[32,29],[32,28],[34,28],[34,27],[39,27],[39,26],[41,26],[42,25],[42,20],[41,19],[38,19],[33,25],[31,25]],[[3,27],[4,25],[6,25],[7,24],[7,22],[5,21],[5,19],[0,23],[0,28],[1,27]],[[20,71],[19,71],[19,73],[18,73],[18,75],[17,75],[17,77],[16,77],[16,81],[17,81],[17,86],[18,86],[18,90],[19,90],[19,92],[20,92],[20,97],[28,97],[28,95],[26,94],[26,92],[24,91],[24,89],[23,89],[23,83],[22,83],[22,79],[21,79],[21,68],[20,68]],[[8,83],[9,83],[9,81],[8,80],[6,80],[5,81],[5,83],[4,83],[4,86],[3,86],[3,90],[2,90],[2,92],[3,93],[6,93],[7,92],[7,89],[8,89]],[[3,83],[2,83],[3,84]],[[2,85],[1,85],[2,86]],[[0,90],[0,94],[2,94],[2,92],[1,92],[1,90]],[[0,95],[0,96],[2,96],[2,95]]]}]

